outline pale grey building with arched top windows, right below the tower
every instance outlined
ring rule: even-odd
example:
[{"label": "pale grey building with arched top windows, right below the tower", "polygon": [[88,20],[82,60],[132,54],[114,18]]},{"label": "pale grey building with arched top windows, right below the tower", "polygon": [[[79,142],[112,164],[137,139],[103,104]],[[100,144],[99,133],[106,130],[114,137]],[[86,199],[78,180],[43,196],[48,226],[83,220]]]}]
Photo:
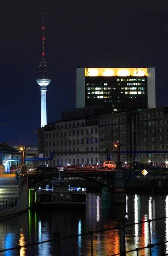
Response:
[{"label": "pale grey building with arched top windows, right below the tower", "polygon": [[49,157],[54,150],[55,152],[72,152],[71,154],[55,154],[53,160],[49,163],[52,166],[99,163],[98,154],[73,153],[99,151],[98,119],[59,120],[55,123],[49,123],[45,126],[41,138],[43,138],[39,144],[39,155],[41,157]]}]

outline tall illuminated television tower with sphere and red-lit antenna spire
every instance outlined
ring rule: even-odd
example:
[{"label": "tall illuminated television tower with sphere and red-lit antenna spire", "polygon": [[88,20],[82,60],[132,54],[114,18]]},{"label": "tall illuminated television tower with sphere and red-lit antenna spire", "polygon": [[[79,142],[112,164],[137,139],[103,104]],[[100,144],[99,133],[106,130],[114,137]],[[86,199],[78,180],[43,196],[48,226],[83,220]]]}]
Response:
[{"label": "tall illuminated television tower with sphere and red-lit antenna spire", "polygon": [[42,38],[42,58],[39,61],[40,74],[36,79],[37,83],[41,86],[41,127],[44,127],[46,122],[46,86],[50,83],[51,79],[48,77],[47,61],[44,58],[44,10],[43,10],[43,38]]}]

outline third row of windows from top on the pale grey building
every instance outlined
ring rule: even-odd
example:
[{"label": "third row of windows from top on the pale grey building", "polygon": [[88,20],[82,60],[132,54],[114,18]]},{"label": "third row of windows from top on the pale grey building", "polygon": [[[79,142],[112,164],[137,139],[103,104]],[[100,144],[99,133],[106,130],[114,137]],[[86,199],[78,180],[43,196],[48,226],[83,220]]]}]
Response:
[{"label": "third row of windows from top on the pale grey building", "polygon": [[[93,140],[93,138],[91,138],[90,141],[89,141],[89,138],[87,138],[86,143],[87,144],[89,144],[89,143],[91,143],[91,144],[98,143],[98,138],[96,137],[95,140]],[[77,145],[80,144],[80,139],[76,140],[76,144]],[[81,139],[81,144],[84,144],[84,138]],[[56,146],[63,146],[63,140],[61,140],[60,143],[59,143],[58,140],[56,141],[56,143],[55,143],[55,141],[53,141],[53,142],[50,141],[49,143],[46,141],[46,147],[48,147],[48,145],[49,145],[49,147],[52,147],[52,146],[54,147],[55,145]],[[65,146],[66,145],[71,145],[71,140],[65,140],[64,145]],[[72,145],[75,145],[75,140],[72,140]]]}]

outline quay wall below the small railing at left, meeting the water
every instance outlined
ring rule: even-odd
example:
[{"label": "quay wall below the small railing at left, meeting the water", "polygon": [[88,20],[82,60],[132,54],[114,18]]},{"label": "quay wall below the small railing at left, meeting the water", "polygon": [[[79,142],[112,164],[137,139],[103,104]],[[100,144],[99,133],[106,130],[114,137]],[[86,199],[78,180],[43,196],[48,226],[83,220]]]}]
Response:
[{"label": "quay wall below the small railing at left, meeting the water", "polygon": [[14,215],[20,214],[21,212],[28,211],[28,194],[27,184],[22,186],[19,199],[17,201],[17,207],[0,211],[0,219],[13,217]]}]

